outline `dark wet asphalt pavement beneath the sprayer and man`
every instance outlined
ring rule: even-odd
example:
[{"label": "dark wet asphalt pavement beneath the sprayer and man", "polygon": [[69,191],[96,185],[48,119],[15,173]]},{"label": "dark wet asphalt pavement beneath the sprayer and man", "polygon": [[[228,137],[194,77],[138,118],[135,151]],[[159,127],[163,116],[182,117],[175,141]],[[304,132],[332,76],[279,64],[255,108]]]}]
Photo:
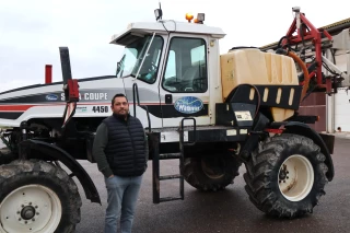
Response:
[{"label": "dark wet asphalt pavement beneath the sprayer and man", "polygon": [[[350,232],[350,140],[336,139],[332,155],[336,176],[327,184],[326,196],[320,198],[314,213],[295,220],[267,218],[255,208],[244,190],[243,174],[223,191],[206,194],[185,183],[185,200],[152,202],[152,163],[144,174],[133,233],[225,233],[225,232]],[[161,175],[178,173],[178,162],[162,161]],[[96,164],[82,162],[93,177],[102,198],[102,206],[91,203],[83,197],[82,221],[78,233],[102,233],[106,191]],[[166,172],[168,171],[168,172]],[[176,196],[178,180],[161,182],[161,196]]]}]

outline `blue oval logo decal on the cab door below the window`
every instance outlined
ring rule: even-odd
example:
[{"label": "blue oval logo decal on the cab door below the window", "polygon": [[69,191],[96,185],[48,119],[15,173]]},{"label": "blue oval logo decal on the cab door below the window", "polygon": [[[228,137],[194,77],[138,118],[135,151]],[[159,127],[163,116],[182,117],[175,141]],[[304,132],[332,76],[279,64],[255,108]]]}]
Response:
[{"label": "blue oval logo decal on the cab door below the window", "polygon": [[203,108],[203,102],[194,96],[180,97],[175,102],[175,109],[183,114],[198,113]]}]

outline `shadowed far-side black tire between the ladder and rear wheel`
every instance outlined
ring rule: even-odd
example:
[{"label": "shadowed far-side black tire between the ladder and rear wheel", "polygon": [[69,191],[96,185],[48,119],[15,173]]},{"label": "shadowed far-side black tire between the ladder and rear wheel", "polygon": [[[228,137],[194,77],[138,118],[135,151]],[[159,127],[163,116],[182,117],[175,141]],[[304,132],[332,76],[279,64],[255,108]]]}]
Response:
[{"label": "shadowed far-side black tire between the ladder and rear wheel", "polygon": [[184,178],[192,187],[203,191],[217,191],[233,184],[240,175],[242,162],[231,154],[188,158],[184,163]]}]

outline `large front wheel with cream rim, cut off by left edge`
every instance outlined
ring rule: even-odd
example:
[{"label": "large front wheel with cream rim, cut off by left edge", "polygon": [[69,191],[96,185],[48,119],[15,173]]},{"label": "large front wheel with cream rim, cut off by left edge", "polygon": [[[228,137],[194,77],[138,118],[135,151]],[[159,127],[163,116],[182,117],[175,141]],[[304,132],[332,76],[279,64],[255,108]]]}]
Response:
[{"label": "large front wheel with cream rim, cut off by left edge", "polygon": [[73,179],[44,161],[0,166],[0,232],[72,233],[81,198]]}]

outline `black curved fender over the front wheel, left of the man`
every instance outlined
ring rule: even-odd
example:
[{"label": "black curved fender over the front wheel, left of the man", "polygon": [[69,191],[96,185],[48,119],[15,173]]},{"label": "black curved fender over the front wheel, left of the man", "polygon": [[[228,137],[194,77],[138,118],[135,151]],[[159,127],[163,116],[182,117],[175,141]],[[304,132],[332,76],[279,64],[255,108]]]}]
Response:
[{"label": "black curved fender over the front wheel, left of the man", "polygon": [[[25,140],[20,143],[20,159],[48,159],[48,160],[58,160],[62,162],[73,175],[75,175],[83,186],[86,199],[90,199],[91,202],[101,203],[101,198],[96,186],[92,182],[91,177],[75,160],[69,153],[67,153],[61,148],[50,144],[45,141],[38,141],[34,139]],[[36,155],[33,152],[39,152]],[[24,156],[24,158],[23,158]],[[72,175],[70,175],[72,176]]]}]

